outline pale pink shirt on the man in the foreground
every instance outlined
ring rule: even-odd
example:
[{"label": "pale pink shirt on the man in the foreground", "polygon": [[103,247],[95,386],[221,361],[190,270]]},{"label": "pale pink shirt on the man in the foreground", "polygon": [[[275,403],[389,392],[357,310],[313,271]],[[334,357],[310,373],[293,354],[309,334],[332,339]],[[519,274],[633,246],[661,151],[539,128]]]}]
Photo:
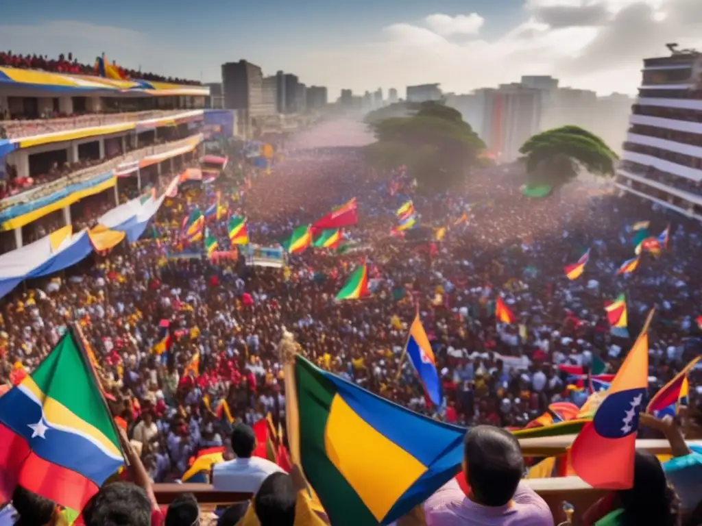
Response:
[{"label": "pale pink shirt on the man in the foreground", "polygon": [[425,501],[424,514],[427,526],[553,526],[548,504],[523,484],[511,504],[493,508],[468,499],[453,479]]}]

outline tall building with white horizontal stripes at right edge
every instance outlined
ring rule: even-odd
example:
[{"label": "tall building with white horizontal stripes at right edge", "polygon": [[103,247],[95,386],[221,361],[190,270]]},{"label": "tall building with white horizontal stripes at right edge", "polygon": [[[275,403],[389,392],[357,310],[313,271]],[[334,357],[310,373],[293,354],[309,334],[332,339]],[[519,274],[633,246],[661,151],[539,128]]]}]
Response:
[{"label": "tall building with white horizontal stripes at right edge", "polygon": [[616,185],[702,221],[702,54],[669,48],[644,60]]}]

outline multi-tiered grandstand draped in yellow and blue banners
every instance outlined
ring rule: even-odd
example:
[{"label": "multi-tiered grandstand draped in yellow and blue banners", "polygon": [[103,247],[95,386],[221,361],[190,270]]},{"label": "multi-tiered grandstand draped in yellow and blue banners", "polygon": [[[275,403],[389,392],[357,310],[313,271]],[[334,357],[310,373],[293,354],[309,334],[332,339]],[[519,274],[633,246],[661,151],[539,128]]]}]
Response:
[{"label": "multi-tiered grandstand draped in yellow and blue banners", "polygon": [[52,69],[0,67],[0,253],[88,226],[202,153],[208,87]]}]

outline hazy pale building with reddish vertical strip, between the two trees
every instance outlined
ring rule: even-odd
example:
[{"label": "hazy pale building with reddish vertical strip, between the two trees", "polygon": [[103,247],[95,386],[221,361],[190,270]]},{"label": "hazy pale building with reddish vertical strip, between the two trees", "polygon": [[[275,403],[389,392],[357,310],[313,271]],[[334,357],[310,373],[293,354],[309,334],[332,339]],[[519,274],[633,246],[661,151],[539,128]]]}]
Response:
[{"label": "hazy pale building with reddish vertical strip, between the two trees", "polygon": [[483,109],[480,137],[498,161],[516,161],[524,141],[539,130],[541,90],[512,83],[476,95]]}]

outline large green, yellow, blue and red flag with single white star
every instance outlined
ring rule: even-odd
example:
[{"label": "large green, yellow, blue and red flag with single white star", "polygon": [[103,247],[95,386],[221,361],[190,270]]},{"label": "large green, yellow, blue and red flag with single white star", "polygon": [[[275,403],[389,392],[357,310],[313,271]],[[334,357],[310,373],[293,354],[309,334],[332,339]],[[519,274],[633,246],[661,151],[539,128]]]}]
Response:
[{"label": "large green, yellow, blue and red flag with single white star", "polygon": [[17,485],[81,510],[124,464],[98,380],[72,330],[0,398],[0,500]]}]

